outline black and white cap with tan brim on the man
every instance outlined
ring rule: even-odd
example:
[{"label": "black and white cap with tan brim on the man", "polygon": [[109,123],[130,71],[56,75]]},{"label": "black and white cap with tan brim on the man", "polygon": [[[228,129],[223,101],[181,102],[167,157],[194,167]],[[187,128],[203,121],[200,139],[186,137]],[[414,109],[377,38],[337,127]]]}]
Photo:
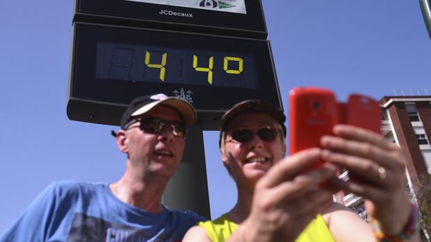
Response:
[{"label": "black and white cap with tan brim on the man", "polygon": [[181,98],[166,96],[165,94],[153,94],[134,98],[127,110],[124,112],[120,126],[124,130],[127,124],[130,123],[136,116],[140,116],[158,107],[159,105],[167,105],[179,112],[185,125],[194,124],[197,119],[195,108]]}]

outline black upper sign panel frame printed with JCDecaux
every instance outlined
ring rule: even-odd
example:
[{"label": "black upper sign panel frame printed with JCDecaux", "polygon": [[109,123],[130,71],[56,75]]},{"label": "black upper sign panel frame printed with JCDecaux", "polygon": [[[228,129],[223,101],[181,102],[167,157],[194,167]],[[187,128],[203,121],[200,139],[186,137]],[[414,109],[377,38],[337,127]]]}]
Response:
[{"label": "black upper sign panel frame printed with JCDecaux", "polygon": [[[202,2],[206,1],[209,0]],[[268,34],[261,0],[244,1],[245,13],[136,0],[75,0],[74,21],[266,39]]]}]

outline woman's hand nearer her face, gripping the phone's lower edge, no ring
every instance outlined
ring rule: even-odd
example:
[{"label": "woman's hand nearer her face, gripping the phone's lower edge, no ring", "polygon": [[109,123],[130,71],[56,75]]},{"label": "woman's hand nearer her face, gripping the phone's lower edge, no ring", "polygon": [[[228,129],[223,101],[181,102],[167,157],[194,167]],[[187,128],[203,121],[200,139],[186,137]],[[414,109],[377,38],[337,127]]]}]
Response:
[{"label": "woman's hand nearer her face, gripping the phone's lower edge, no ring", "polygon": [[320,184],[334,178],[336,166],[318,162],[320,148],[311,148],[277,162],[256,185],[250,216],[242,224],[245,241],[295,241],[316,214],[332,203],[334,190]]}]

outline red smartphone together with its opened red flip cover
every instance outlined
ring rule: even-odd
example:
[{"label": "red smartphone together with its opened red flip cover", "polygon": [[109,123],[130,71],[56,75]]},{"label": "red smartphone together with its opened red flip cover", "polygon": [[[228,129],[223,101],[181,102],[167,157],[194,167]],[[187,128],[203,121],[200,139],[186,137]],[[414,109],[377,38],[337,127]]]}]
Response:
[{"label": "red smartphone together with its opened red flip cover", "polygon": [[[338,103],[328,89],[296,87],[289,93],[289,153],[320,146],[320,137],[332,135],[336,123],[346,123],[380,133],[382,109],[368,96],[351,94]],[[316,163],[311,168],[320,166]]]}]

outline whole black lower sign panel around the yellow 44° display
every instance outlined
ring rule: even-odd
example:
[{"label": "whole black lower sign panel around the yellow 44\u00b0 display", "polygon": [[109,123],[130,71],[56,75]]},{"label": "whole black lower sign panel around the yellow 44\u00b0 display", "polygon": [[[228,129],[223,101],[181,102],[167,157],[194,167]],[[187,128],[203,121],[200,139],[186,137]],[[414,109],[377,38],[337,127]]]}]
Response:
[{"label": "whole black lower sign panel around the yellow 44\u00b0 display", "polygon": [[206,129],[248,98],[282,108],[266,40],[75,23],[73,53],[70,119],[115,125],[133,98],[154,93],[192,103]]}]

